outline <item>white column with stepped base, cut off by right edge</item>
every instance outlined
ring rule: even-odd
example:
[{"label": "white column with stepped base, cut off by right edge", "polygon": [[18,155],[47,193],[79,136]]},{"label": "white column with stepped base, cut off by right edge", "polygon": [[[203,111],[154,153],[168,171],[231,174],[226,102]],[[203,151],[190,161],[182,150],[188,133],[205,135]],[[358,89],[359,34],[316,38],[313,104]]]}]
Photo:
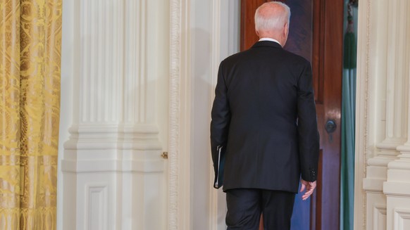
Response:
[{"label": "white column with stepped base, cut off by right edge", "polygon": [[390,162],[387,182],[383,191],[387,196],[387,229],[410,229],[410,3],[406,0],[396,2],[397,18],[395,38],[397,41],[397,76],[402,76],[404,91],[397,93],[405,96],[403,119],[406,128],[406,143],[397,146],[397,159]]}]

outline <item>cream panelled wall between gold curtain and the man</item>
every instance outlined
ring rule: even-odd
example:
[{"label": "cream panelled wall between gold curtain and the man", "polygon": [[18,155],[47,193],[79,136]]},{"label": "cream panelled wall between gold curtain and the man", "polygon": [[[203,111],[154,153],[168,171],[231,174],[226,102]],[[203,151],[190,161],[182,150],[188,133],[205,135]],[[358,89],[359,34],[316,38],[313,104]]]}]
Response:
[{"label": "cream panelled wall between gold curtain and the man", "polygon": [[225,229],[209,114],[240,1],[63,4],[58,229]]}]

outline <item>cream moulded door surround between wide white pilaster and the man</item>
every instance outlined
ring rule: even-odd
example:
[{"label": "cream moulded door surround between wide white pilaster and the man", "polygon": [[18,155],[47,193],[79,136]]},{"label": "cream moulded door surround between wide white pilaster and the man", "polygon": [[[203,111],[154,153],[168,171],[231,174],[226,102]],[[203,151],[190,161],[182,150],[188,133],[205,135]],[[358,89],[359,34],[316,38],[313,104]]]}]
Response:
[{"label": "cream moulded door surround between wide white pilaster and the man", "polygon": [[224,194],[211,183],[209,118],[219,62],[239,44],[239,4],[170,3],[168,229],[225,229]]}]

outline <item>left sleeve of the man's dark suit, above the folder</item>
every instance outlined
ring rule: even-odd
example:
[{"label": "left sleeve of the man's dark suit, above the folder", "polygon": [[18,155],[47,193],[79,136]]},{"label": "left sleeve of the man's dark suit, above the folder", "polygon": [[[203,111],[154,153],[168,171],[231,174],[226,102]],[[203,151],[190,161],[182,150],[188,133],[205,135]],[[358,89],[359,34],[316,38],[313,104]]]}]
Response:
[{"label": "left sleeve of the man's dark suit, above the folder", "polygon": [[226,148],[228,130],[230,124],[230,107],[228,101],[228,87],[223,76],[223,63],[218,70],[218,82],[216,83],[215,98],[211,111],[211,154],[213,167],[217,172],[218,146]]}]

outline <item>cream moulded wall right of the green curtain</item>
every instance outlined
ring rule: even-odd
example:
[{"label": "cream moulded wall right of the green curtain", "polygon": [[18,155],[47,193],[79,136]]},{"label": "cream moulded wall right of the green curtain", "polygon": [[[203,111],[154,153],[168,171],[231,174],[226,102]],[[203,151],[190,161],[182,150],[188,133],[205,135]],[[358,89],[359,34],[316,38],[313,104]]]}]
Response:
[{"label": "cream moulded wall right of the green curtain", "polygon": [[409,12],[359,1],[354,229],[410,229]]}]

